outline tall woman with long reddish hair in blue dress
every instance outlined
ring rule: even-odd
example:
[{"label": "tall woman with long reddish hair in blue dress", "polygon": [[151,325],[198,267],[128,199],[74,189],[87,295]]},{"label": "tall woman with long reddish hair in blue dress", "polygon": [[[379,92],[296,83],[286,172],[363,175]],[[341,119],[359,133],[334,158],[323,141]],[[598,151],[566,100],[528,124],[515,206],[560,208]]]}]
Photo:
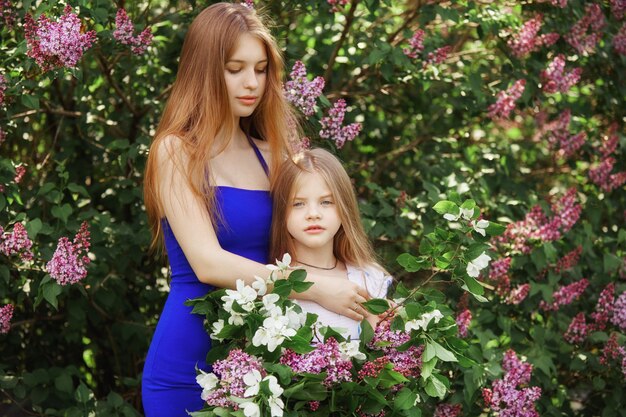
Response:
[{"label": "tall woman with long reddish hair in blue dress", "polygon": [[[233,288],[238,278],[269,275],[268,190],[293,130],[282,72],[276,43],[252,9],[218,3],[189,27],[145,173],[150,225],[172,270],[144,365],[147,417],[183,417],[202,407],[195,369],[210,370],[211,341],[184,302],[213,287]],[[368,294],[346,282],[298,296],[360,319],[350,306]]]}]

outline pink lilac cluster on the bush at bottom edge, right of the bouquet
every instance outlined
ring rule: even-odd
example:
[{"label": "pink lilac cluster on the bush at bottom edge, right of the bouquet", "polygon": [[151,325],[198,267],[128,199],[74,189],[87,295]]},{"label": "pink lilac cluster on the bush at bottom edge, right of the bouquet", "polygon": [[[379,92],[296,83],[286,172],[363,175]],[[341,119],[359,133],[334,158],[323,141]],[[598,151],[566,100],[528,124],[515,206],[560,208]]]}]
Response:
[{"label": "pink lilac cluster on the bush at bottom edge, right of the bouquet", "polygon": [[530,382],[532,365],[517,359],[509,350],[504,357],[502,368],[506,374],[493,381],[491,388],[483,389],[483,399],[487,407],[500,417],[539,417],[534,402],[541,396],[541,388],[526,387]]}]

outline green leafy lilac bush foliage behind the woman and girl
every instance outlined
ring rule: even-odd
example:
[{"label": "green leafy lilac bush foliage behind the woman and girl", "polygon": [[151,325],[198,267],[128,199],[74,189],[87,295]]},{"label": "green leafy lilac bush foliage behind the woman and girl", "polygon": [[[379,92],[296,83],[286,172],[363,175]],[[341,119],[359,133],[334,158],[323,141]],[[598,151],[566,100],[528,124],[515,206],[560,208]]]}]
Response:
[{"label": "green leafy lilac bush foliage behind the woman and girl", "polygon": [[[530,283],[519,306],[487,291],[488,303],[472,301],[468,342],[480,365],[451,375],[451,401],[464,415],[480,415],[480,388],[501,374],[502,353],[513,348],[535,366],[533,383],[543,396],[543,416],[625,415],[620,364],[599,356],[615,326],[593,333],[581,345],[562,334],[578,312],[593,311],[610,282],[626,289],[624,274],[626,193],[603,192],[588,179],[595,150],[611,123],[618,124],[616,169],[624,163],[626,58],[612,38],[624,24],[609,2],[596,2],[607,17],[595,52],[577,54],[562,38],[551,47],[515,58],[507,39],[536,13],[542,33],[566,34],[585,11],[582,0],[566,8],[536,1],[352,0],[337,13],[323,1],[269,1],[261,8],[289,67],[303,60],[310,74],[326,79],[331,102],[345,98],[350,122],[363,123],[352,143],[337,150],[361,200],[368,232],[384,264],[408,286],[426,271],[409,273],[396,262],[419,254],[423,236],[445,222],[432,206],[460,192],[483,207],[486,218],[522,219],[549,196],[576,187],[584,204],[572,231],[550,244],[537,242],[526,255],[513,254],[512,279]],[[150,138],[173,82],[185,30],[210,2],[109,2],[74,0],[86,29],[98,41],[72,70],[42,73],[26,56],[22,22],[61,14],[64,3],[14,3],[17,23],[0,28],[0,73],[8,79],[0,127],[0,226],[26,225],[35,260],[1,256],[0,306],[16,306],[12,328],[0,335],[0,411],[7,415],[137,415],[143,360],[166,296],[165,260],[148,250],[150,234],[142,205],[142,173]],[[152,47],[141,55],[112,37],[115,13],[125,7],[138,30],[153,28]],[[452,50],[439,65],[402,53],[417,28],[427,31],[425,54]],[[545,94],[539,73],[556,54],[568,68],[582,67],[581,81],[567,93]],[[494,122],[487,107],[515,80],[526,91],[510,119]],[[568,160],[555,158],[538,136],[535,116],[555,118],[571,109],[572,132],[587,142]],[[315,134],[318,115],[307,122]],[[332,143],[315,142],[334,149]],[[27,174],[13,182],[14,167]],[[92,263],[78,285],[60,287],[43,267],[61,236],[70,238],[87,221]],[[567,274],[542,270],[582,245],[581,261]],[[500,253],[500,256],[507,253]],[[620,272],[621,271],[621,272]],[[558,285],[591,282],[585,295],[558,313],[538,309]],[[433,284],[456,302],[460,293],[445,280]],[[487,384],[487,385],[486,385]],[[432,404],[423,413],[432,414]]]}]

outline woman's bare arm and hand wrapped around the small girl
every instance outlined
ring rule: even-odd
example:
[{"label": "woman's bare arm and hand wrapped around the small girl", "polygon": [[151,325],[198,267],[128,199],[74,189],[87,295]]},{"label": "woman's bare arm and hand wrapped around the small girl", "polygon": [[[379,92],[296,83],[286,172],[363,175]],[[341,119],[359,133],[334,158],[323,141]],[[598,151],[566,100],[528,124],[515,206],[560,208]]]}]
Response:
[{"label": "woman's bare arm and hand wrapped around the small girl", "polygon": [[[180,140],[174,136],[165,138],[157,152],[164,215],[198,280],[220,288],[235,288],[238,279],[251,284],[255,275],[268,278],[270,271],[263,264],[228,252],[220,246],[204,202],[193,194],[184,172],[172,160],[172,155],[176,155],[180,158],[178,165],[187,166]],[[295,298],[315,301],[355,320],[363,318],[350,309],[355,302],[369,298],[367,291],[359,285],[348,280],[331,282],[327,277],[315,274],[309,280],[315,285],[305,293],[294,294]]]}]

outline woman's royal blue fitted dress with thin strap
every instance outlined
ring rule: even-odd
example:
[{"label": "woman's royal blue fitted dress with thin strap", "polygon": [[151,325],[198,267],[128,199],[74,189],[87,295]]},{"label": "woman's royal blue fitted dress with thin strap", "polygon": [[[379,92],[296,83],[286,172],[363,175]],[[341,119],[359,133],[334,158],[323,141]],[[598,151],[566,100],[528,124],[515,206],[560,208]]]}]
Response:
[{"label": "woman's royal blue fitted dress with thin strap", "polygon": [[[267,174],[261,152],[252,139],[248,140]],[[267,263],[272,221],[269,191],[218,186],[215,198],[223,217],[216,227],[220,246]],[[172,280],[144,364],[142,400],[146,417],[187,417],[186,411],[198,411],[203,406],[195,368],[211,370],[205,361],[211,339],[204,330],[203,318],[191,314],[191,308],[184,303],[214,287],[198,280],[165,219],[163,226]]]}]

